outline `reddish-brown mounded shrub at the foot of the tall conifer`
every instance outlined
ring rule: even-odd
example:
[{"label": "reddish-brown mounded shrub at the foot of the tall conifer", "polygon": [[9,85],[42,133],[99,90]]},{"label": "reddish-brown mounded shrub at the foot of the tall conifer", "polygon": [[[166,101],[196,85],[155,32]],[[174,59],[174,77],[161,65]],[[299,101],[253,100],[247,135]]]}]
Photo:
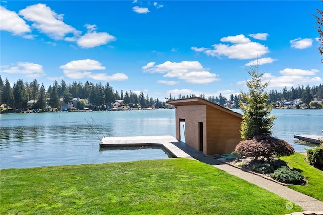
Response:
[{"label": "reddish-brown mounded shrub at the foot of the tall conifer", "polygon": [[242,155],[255,157],[255,159],[260,156],[289,156],[295,152],[288,142],[272,136],[256,136],[243,140],[236,146],[235,151]]}]

